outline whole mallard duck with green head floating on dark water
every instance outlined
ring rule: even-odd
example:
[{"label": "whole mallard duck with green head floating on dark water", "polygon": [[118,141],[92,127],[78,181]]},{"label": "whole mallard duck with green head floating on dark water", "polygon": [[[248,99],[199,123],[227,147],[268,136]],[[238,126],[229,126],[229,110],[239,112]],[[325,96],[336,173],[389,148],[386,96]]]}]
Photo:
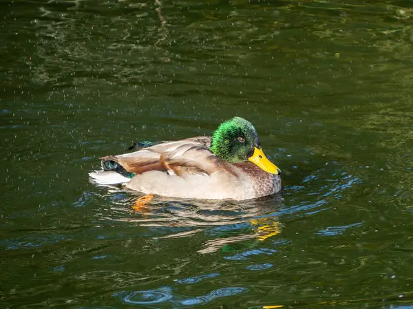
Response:
[{"label": "whole mallard duck with green head floating on dark water", "polygon": [[240,117],[223,122],[212,137],[162,142],[100,160],[103,169],[89,173],[98,184],[125,184],[165,197],[248,200],[281,189],[281,171],[264,155],[251,122]]}]

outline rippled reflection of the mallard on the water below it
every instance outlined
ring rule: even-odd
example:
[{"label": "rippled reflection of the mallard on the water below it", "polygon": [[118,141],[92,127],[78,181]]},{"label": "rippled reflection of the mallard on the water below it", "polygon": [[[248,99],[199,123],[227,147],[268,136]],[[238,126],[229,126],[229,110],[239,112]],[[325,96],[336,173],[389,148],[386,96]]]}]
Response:
[{"label": "rippled reflection of the mallard on the water below it", "polygon": [[[168,228],[166,235],[153,236],[158,239],[189,237],[200,232],[212,236],[213,239],[204,242],[198,253],[211,253],[229,244],[251,239],[265,241],[282,230],[277,215],[282,205],[280,194],[239,202],[142,196],[136,191],[112,189],[108,193],[112,196],[126,193],[123,199],[111,206],[118,212],[123,209],[123,214],[114,216],[107,213],[105,219]],[[226,237],[229,234],[231,236]]]}]

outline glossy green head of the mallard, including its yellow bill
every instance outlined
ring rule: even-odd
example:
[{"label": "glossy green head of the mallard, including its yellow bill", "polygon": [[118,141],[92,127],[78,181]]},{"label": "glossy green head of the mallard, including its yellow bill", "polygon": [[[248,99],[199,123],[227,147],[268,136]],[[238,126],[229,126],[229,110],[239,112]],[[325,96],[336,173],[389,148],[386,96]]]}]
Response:
[{"label": "glossy green head of the mallard, including its yellow bill", "polygon": [[210,150],[231,163],[251,161],[267,173],[278,175],[279,168],[262,152],[260,139],[251,122],[234,117],[223,122],[213,133]]}]

